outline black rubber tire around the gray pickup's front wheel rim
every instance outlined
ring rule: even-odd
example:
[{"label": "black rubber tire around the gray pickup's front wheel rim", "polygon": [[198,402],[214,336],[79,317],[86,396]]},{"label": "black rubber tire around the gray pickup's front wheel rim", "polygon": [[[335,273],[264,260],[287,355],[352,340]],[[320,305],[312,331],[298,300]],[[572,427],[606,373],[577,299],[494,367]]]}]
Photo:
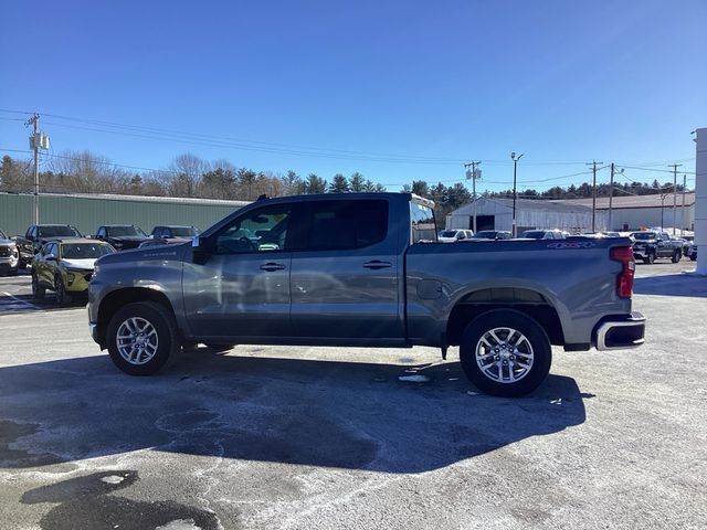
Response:
[{"label": "black rubber tire around the gray pickup's front wheel rim", "polygon": [[[156,352],[145,362],[128,361],[120,354],[120,349],[118,348],[118,330],[131,318],[147,321],[157,336]],[[175,317],[167,308],[154,301],[137,301],[118,309],[108,322],[106,343],[115,365],[130,375],[151,375],[157,373],[167,363],[170,354],[180,346],[177,340]]]}]

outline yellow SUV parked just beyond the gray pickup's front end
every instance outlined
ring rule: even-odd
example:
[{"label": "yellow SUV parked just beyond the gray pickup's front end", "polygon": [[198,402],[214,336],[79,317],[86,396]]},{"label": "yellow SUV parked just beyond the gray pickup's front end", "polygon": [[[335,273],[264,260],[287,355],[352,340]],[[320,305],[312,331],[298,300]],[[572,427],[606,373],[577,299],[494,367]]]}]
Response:
[{"label": "yellow SUV parked just beyond the gray pickup's front end", "polygon": [[96,259],[114,252],[108,243],[97,240],[49,241],[32,262],[32,295],[44,298],[51,289],[56,304],[71,304],[72,295],[88,290]]}]

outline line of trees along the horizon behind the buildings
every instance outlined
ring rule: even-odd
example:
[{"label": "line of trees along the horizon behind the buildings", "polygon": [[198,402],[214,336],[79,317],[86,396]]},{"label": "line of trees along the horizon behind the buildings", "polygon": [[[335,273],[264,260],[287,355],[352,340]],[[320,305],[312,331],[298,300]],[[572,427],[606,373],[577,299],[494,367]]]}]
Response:
[{"label": "line of trees along the horizon behind the buildings", "polygon": [[[0,162],[0,191],[31,192],[33,190],[31,160],[14,159],[8,155]],[[295,171],[284,174],[239,168],[228,160],[205,161],[191,153],[176,157],[165,169],[130,169],[117,166],[105,157],[89,151],[65,151],[52,155],[42,163],[40,190],[43,193],[116,193],[128,195],[186,197],[252,201],[261,194],[283,197],[302,193],[383,192],[386,187],[373,183],[361,173],[349,177],[337,173],[330,180],[316,173],[303,177]],[[677,191],[683,186],[677,184]],[[435,203],[437,219],[472,202],[472,194],[462,182],[445,186],[413,180],[403,191],[431,199]],[[614,183],[614,195],[645,195],[673,191],[672,182]],[[598,197],[609,197],[610,186],[597,187]],[[485,191],[482,197],[510,198],[513,190]],[[578,199],[591,198],[592,186],[581,183],[567,188],[553,187],[546,191],[524,189],[524,199]]]}]

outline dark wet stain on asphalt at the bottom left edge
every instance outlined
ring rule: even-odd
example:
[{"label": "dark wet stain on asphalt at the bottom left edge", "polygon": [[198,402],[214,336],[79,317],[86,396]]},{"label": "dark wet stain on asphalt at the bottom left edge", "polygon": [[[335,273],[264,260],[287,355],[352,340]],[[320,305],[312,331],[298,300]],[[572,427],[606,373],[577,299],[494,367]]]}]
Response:
[{"label": "dark wet stain on asphalt at the bottom left edge", "polygon": [[27,491],[25,505],[57,504],[40,520],[42,530],[219,530],[215,515],[171,500],[139,501],[108,495],[138,481],[135,470],[94,473]]}]

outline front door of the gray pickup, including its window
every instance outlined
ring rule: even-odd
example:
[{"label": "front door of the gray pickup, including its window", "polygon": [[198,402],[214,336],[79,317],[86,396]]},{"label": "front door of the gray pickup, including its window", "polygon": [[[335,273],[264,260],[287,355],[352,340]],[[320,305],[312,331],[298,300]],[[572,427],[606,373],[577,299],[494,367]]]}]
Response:
[{"label": "front door of the gray pickup, including its window", "polygon": [[213,247],[205,263],[186,259],[184,309],[194,337],[292,335],[291,210],[274,204],[236,216],[210,235]]}]

